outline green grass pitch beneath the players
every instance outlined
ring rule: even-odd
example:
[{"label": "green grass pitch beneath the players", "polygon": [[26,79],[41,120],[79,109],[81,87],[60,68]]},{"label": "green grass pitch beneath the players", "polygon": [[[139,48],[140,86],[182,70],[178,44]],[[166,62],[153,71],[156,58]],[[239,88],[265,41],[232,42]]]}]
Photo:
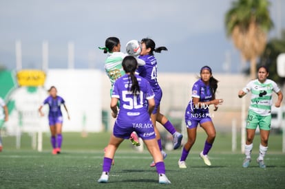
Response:
[{"label": "green grass pitch beneath the players", "polygon": [[[151,157],[145,150],[135,151],[129,141],[123,142],[115,156],[109,182],[98,184],[101,176],[103,148],[110,133],[63,133],[60,155],[52,155],[49,134],[43,135],[43,152],[32,150],[31,138],[25,134],[21,149],[15,148],[14,137],[3,137],[0,153],[0,188],[284,188],[285,154],[282,135],[271,135],[265,162],[258,168],[256,158],[260,136],[256,135],[253,159],[242,168],[244,155],[231,152],[231,135],[219,133],[209,154],[212,166],[198,157],[204,144],[204,133],[198,133],[196,144],[187,159],[187,169],[178,168],[181,149],[167,151],[165,166],[171,185],[158,184]],[[237,141],[237,144],[240,144]]]}]

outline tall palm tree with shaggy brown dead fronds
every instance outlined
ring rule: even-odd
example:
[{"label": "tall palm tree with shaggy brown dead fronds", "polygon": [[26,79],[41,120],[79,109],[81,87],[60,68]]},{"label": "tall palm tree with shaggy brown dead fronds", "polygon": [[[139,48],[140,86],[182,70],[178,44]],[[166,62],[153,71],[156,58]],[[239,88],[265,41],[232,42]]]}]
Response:
[{"label": "tall palm tree with shaggy brown dead fronds", "polygon": [[230,36],[242,58],[250,61],[251,78],[256,77],[257,58],[264,52],[267,33],[273,27],[267,0],[237,0],[226,12],[226,34]]}]

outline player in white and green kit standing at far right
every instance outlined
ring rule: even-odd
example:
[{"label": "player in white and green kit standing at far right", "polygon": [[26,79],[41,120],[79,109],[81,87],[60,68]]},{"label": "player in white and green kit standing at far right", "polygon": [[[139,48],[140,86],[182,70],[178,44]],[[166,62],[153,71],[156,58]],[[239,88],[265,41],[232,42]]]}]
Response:
[{"label": "player in white and green kit standing at far right", "polygon": [[244,89],[238,92],[238,97],[242,98],[246,93],[251,92],[251,105],[246,120],[246,145],[245,159],[242,164],[244,168],[249,167],[251,162],[251,151],[253,149],[253,138],[257,124],[260,126],[260,155],[257,157],[257,164],[260,168],[266,168],[264,156],[268,149],[268,137],[271,129],[271,105],[273,91],[277,93],[278,99],[275,107],[280,107],[283,94],[277,84],[270,79],[268,68],[262,66],[258,69],[257,79],[251,80]]}]

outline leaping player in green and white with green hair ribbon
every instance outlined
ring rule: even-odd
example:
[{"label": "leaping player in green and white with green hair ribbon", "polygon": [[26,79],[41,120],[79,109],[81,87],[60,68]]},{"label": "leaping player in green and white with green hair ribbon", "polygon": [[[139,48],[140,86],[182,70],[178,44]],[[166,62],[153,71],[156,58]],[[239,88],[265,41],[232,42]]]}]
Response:
[{"label": "leaping player in green and white with green hair ribbon", "polygon": [[[116,37],[107,38],[105,41],[105,47],[99,47],[99,49],[103,49],[104,53],[107,54],[107,59],[105,60],[105,71],[112,85],[110,89],[111,96],[114,82],[121,76],[125,75],[122,60],[125,56],[127,56],[127,54],[120,52],[120,40]],[[139,65],[144,64],[145,63],[142,60],[139,61]],[[131,140],[131,143],[134,146],[140,146],[140,141],[138,140],[136,133],[131,133],[129,140]]]}]

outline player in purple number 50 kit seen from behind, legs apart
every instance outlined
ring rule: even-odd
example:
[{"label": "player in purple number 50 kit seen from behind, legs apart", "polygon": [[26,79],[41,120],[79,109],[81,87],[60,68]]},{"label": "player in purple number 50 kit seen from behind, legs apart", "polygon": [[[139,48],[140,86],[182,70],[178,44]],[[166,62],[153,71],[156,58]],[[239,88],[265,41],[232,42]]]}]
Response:
[{"label": "player in purple number 50 kit seen from behind, legs apart", "polygon": [[[110,107],[113,118],[118,118],[114,124],[109,144],[106,147],[103,173],[98,179],[99,183],[108,181],[116,149],[123,140],[129,138],[133,131],[136,131],[156,162],[158,182],[160,184],[170,184],[169,179],[165,176],[165,163],[155,139],[154,126],[149,117],[154,109],[154,91],[152,91],[147,80],[135,75],[137,66],[138,62],[134,56],[126,56],[123,59],[123,69],[126,74],[114,83]],[[118,100],[120,100],[119,113],[117,108]],[[146,108],[146,102],[148,102],[148,109]]]}]

